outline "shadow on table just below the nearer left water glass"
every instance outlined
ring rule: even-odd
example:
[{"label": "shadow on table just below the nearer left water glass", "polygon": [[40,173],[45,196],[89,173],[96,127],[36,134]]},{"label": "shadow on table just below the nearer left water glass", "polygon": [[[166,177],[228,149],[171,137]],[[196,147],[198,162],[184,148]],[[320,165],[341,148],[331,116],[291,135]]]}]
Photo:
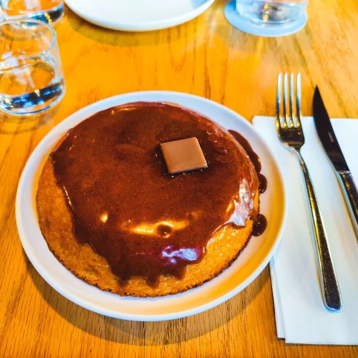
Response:
[{"label": "shadow on table just below the nearer left water glass", "polygon": [[54,118],[58,107],[55,106],[43,113],[31,116],[16,116],[1,112],[0,134],[16,135],[36,130]]}]

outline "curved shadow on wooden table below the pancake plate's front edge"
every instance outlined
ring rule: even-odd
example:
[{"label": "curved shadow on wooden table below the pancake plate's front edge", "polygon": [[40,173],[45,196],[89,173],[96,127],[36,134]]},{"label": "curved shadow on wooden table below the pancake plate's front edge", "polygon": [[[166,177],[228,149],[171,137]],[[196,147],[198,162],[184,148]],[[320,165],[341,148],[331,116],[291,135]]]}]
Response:
[{"label": "curved shadow on wooden table below the pancake plate's front edge", "polygon": [[[260,293],[269,278],[265,269],[249,288],[226,303],[194,316],[163,322],[135,322],[106,317],[77,306],[51,288],[31,265],[23,251],[27,270],[42,297],[69,324],[101,339],[132,346],[169,345],[189,341],[214,331],[242,312]],[[244,331],[245,326],[239,325]]]}]

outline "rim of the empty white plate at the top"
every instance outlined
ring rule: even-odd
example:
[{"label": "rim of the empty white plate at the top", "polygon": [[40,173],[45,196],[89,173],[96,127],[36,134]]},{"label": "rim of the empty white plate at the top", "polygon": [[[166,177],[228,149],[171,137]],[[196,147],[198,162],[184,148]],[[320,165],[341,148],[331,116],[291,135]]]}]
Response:
[{"label": "rim of the empty white plate at the top", "polygon": [[66,5],[79,17],[82,19],[100,26],[106,29],[111,30],[119,30],[119,31],[133,31],[133,32],[140,32],[140,31],[154,31],[154,30],[163,30],[167,28],[171,28],[177,25],[184,24],[190,20],[201,15],[205,12],[215,0],[206,0],[203,4],[195,8],[194,10],[185,13],[183,15],[174,16],[164,20],[158,21],[146,21],[146,22],[136,22],[136,23],[114,23],[112,21],[100,21],[93,16],[89,16],[88,14],[84,13],[81,9],[79,9],[76,5],[73,4],[74,0],[65,0]]}]

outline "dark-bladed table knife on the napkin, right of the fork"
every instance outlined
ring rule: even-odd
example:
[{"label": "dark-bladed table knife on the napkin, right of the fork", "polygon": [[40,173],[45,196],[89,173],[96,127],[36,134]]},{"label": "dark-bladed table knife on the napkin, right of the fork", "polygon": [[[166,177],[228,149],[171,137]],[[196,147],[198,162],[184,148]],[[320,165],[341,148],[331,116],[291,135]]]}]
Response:
[{"label": "dark-bladed table knife on the napkin, right of the fork", "polygon": [[338,177],[338,181],[351,216],[352,224],[356,232],[356,237],[358,239],[357,186],[353,180],[346,160],[344,159],[342,150],[339,147],[337,138],[333,132],[332,124],[330,123],[330,119],[328,117],[327,110],[317,86],[313,95],[313,119],[318,137],[320,138],[323,148],[325,149]]}]

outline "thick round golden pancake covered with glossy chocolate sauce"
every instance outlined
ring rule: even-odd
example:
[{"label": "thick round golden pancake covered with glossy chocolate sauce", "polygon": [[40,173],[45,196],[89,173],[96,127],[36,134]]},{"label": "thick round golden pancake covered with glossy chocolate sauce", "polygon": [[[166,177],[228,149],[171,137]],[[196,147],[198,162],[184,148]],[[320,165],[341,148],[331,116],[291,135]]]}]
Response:
[{"label": "thick round golden pancake covered with glossy chocolate sauce", "polygon": [[[159,144],[190,136],[208,168],[169,175]],[[246,151],[216,123],[138,102],[71,129],[44,165],[36,203],[49,249],[76,277],[104,291],[156,297],[199,286],[231,265],[257,220],[259,180]]]}]

